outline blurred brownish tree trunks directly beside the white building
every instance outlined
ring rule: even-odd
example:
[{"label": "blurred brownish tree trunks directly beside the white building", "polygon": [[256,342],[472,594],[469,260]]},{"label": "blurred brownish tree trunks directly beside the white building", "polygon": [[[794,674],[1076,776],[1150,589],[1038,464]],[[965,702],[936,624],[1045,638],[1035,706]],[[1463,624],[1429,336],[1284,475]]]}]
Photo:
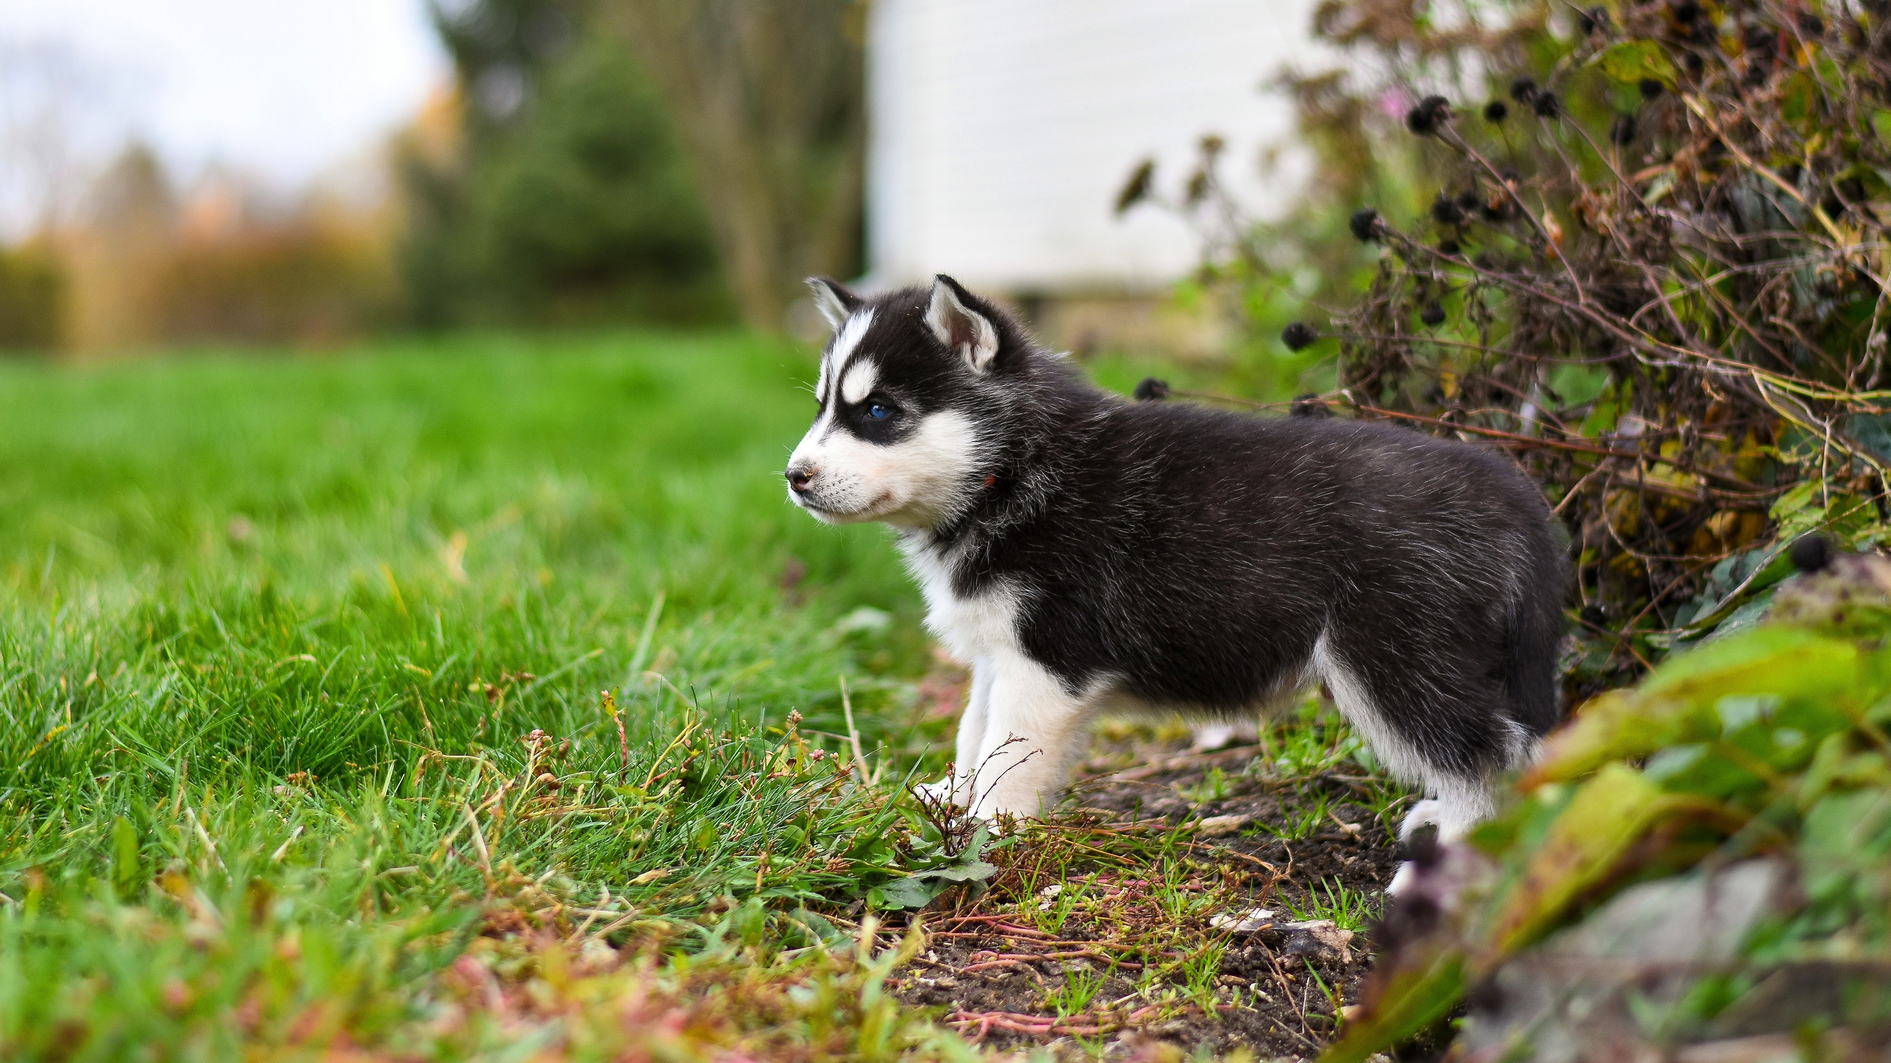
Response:
[{"label": "blurred brownish tree trunks directly beside the white building", "polygon": [[596,0],[656,79],[749,323],[860,265],[862,0]]}]

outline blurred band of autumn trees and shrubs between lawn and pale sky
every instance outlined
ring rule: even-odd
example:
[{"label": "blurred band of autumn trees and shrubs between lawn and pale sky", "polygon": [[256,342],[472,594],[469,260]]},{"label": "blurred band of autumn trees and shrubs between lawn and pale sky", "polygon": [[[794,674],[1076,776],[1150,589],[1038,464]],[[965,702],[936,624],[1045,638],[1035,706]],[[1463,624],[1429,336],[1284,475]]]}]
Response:
[{"label": "blurred band of autumn trees and shrubs between lawn and pale sky", "polygon": [[[779,331],[862,252],[859,0],[435,4],[454,81],[286,197],[129,144],[0,250],[0,350],[331,346],[386,331]],[[367,174],[367,176],[363,176]]]}]

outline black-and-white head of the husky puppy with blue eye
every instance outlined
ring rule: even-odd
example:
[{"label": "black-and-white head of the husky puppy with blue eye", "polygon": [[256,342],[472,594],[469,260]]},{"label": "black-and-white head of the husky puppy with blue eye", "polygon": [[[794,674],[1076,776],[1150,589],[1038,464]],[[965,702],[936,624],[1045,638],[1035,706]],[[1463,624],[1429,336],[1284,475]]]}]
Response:
[{"label": "black-and-white head of the husky puppy with blue eye", "polygon": [[828,524],[934,528],[983,486],[998,376],[1029,356],[1002,310],[940,276],[862,299],[807,282],[834,325],[789,497]]}]

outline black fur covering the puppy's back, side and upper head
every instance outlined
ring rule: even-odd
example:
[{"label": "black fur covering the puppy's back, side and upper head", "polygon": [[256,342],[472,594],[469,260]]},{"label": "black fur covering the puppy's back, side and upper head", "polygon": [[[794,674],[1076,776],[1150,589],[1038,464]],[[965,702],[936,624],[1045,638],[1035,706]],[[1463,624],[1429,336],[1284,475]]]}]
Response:
[{"label": "black fur covering the puppy's back, side and upper head", "polygon": [[985,373],[927,329],[927,289],[868,299],[870,401],[906,431],[951,407],[985,439],[964,503],[902,533],[953,558],[959,596],[1019,588],[1017,639],[1068,690],[1119,677],[1154,706],[1235,713],[1303,681],[1324,634],[1384,723],[1452,775],[1515,766],[1522,736],[1558,723],[1570,564],[1507,456],[1388,424],[1131,403],[953,291],[998,329]]}]

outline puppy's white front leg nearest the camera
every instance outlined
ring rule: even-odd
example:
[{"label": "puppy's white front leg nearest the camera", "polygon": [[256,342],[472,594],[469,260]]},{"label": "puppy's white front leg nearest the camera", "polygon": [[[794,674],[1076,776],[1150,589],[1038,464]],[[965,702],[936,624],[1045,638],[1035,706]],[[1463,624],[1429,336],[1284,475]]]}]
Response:
[{"label": "puppy's white front leg nearest the camera", "polygon": [[1044,815],[1082,753],[1089,706],[1055,675],[1014,654],[991,664],[985,736],[974,762],[972,813]]}]

